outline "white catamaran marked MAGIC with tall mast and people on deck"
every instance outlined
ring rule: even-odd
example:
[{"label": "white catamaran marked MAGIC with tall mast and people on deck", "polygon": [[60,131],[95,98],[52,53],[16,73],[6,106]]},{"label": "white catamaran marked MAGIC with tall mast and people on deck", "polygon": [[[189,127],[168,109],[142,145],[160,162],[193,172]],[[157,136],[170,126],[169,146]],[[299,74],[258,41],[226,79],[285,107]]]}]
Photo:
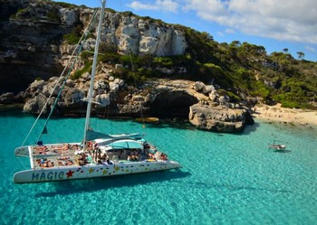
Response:
[{"label": "white catamaran marked MAGIC with tall mast and people on deck", "polygon": [[[95,103],[92,98],[93,83],[105,5],[106,1],[102,0],[93,55],[90,89],[88,97],[84,99],[87,101],[87,111],[83,140],[78,143],[43,144],[39,138],[35,145],[23,144],[15,148],[14,155],[29,157],[31,168],[14,173],[14,183],[68,181],[130,173],[165,171],[181,167],[181,164],[169,160],[168,155],[160,152],[156,146],[149,144],[143,138],[143,135],[139,133],[102,134],[99,138],[90,138],[92,132],[90,127],[91,104]],[[64,80],[66,79],[67,77]],[[52,115],[52,110],[53,108],[49,117]],[[36,121],[39,117],[37,117]],[[45,133],[47,121],[48,119],[40,136]]]}]

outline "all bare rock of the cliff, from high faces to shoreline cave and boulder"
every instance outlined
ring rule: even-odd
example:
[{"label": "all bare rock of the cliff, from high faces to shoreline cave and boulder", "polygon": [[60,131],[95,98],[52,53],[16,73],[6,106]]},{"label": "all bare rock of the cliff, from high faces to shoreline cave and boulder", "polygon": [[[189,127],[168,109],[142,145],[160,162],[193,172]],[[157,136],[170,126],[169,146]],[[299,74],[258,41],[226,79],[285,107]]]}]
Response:
[{"label": "all bare rock of the cliff, from high faces to shoreline cave and boulder", "polygon": [[[83,99],[89,89],[90,73],[85,72],[79,79],[57,76],[74,47],[64,40],[64,34],[86,27],[94,10],[37,0],[10,0],[1,3],[0,11],[0,92],[8,92],[0,96],[0,103],[18,100],[25,102],[25,112],[38,114],[44,108],[43,113],[48,114],[61,94],[55,114],[84,115]],[[184,54],[187,49],[184,33],[173,25],[113,11],[105,14],[101,42],[115,46],[123,55],[171,56]],[[93,46],[91,33],[82,47],[92,51]],[[74,69],[81,70],[84,64],[80,57]],[[107,62],[98,64],[93,85],[93,100],[98,104],[93,105],[93,115],[180,117],[189,119],[197,128],[220,132],[242,131],[252,123],[247,110],[230,103],[213,85],[189,80],[152,80],[136,88],[113,77],[113,70],[114,65]]]}]

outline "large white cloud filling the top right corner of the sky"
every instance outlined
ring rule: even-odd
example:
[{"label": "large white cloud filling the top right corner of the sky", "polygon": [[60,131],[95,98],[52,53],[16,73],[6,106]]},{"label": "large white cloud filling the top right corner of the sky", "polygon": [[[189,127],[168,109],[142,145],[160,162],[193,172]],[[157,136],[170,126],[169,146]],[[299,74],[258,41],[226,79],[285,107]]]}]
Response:
[{"label": "large white cloud filling the top right corner of the sky", "polygon": [[316,0],[186,0],[197,16],[245,34],[317,43]]}]

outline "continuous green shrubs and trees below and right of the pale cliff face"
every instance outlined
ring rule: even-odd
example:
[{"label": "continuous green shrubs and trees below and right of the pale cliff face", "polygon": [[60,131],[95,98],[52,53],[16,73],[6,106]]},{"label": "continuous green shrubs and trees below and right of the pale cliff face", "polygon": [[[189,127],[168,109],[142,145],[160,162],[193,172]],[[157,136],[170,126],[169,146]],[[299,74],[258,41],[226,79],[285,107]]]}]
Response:
[{"label": "continuous green shrubs and trees below and right of the pale cliff face", "polygon": [[[201,80],[226,89],[235,99],[260,97],[265,103],[279,102],[285,108],[317,108],[316,62],[303,60],[303,55],[296,60],[285,51],[267,54],[263,46],[247,42],[218,43],[208,33],[175,27],[186,35],[184,55],[130,58],[106,51],[103,58],[123,64],[114,75],[126,80]],[[126,67],[130,61],[133,71]]]}]

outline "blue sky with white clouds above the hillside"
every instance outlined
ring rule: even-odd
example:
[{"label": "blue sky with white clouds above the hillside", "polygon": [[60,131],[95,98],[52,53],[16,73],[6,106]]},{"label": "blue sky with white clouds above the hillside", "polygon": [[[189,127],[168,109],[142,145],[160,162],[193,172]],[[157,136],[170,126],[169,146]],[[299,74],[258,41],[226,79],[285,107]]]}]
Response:
[{"label": "blue sky with white clouds above the hillside", "polygon": [[[63,0],[74,5],[99,7],[101,0]],[[118,12],[178,23],[210,33],[216,42],[249,42],[267,53],[288,52],[317,61],[316,0],[108,0]]]}]

